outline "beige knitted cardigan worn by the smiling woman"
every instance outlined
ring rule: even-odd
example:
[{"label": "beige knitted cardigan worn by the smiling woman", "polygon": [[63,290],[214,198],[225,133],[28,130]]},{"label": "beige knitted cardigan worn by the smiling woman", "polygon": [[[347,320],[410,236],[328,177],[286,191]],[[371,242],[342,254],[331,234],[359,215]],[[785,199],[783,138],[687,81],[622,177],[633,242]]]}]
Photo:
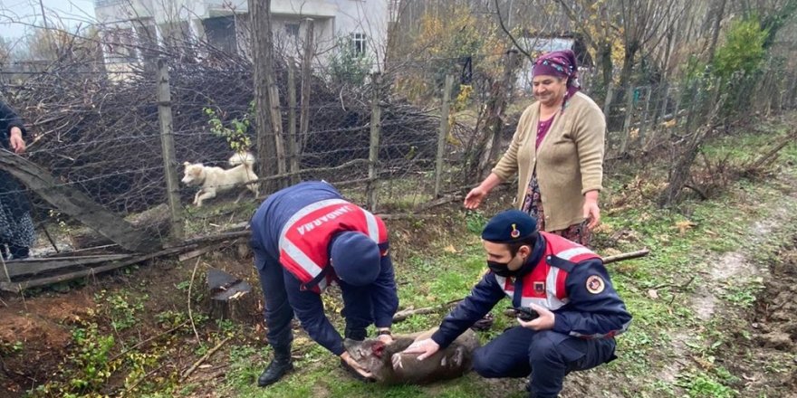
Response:
[{"label": "beige knitted cardigan worn by the smiling woman", "polygon": [[512,143],[493,168],[507,181],[518,173],[517,205],[537,168],[543,200],[545,230],[558,231],[584,221],[584,194],[602,189],[603,141],[606,119],[590,97],[576,92],[564,112],[554,116],[539,150],[534,150],[540,103],[523,111]]}]

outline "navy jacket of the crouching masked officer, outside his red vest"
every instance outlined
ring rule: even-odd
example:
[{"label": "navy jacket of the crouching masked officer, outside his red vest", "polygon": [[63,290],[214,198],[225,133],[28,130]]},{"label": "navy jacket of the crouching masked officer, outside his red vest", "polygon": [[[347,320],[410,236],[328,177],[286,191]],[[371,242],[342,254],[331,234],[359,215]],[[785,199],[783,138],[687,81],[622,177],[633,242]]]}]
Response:
[{"label": "navy jacket of the crouching masked officer, outside his red vest", "polygon": [[[534,246],[530,261],[539,260],[544,254],[545,244],[540,236]],[[556,259],[553,266],[571,268],[565,289],[570,302],[555,311],[553,331],[567,336],[581,338],[610,338],[624,332],[630,324],[631,315],[611,284],[609,272],[599,259],[572,263]],[[536,263],[536,262],[534,262]],[[587,279],[599,275],[605,281],[605,288],[598,294],[587,289]],[[517,289],[520,294],[522,289]],[[432,339],[445,348],[468,327],[490,312],[495,304],[506,297],[506,293],[495,280],[491,271],[485,274],[466,299],[460,302],[444,319]]]}]

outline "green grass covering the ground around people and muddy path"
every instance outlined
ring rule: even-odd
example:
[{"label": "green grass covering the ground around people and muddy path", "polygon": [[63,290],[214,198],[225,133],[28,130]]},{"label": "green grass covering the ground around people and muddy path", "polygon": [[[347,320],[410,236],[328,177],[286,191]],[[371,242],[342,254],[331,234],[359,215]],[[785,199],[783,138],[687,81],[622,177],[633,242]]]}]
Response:
[{"label": "green grass covering the ground around people and muddy path", "polygon": [[[735,165],[756,158],[773,141],[783,135],[740,134],[712,141],[705,148],[712,161],[727,158]],[[795,172],[787,162],[797,163],[797,146],[783,150],[777,168],[793,178]],[[700,171],[700,166],[697,166]],[[634,251],[642,248],[650,254],[641,259],[622,261],[608,266],[615,288],[634,316],[629,331],[618,338],[619,359],[596,371],[599,383],[591,386],[594,396],[603,392],[619,393],[628,397],[734,397],[740,381],[738,375],[718,361],[723,350],[733,344],[729,330],[737,330],[744,336],[748,320],[741,315],[712,317],[703,321],[693,308],[692,295],[697,289],[707,289],[715,296],[717,311],[739,311],[745,314],[754,308],[755,300],[763,288],[759,276],[737,278],[725,283],[712,280],[711,267],[729,252],[747,255],[760,268],[765,268],[777,258],[778,249],[797,235],[797,200],[786,197],[793,185],[783,180],[757,178],[735,179],[727,189],[712,196],[709,201],[687,199],[676,209],[659,209],[652,204],[660,189],[664,169],[652,172],[617,174],[607,178],[608,187],[601,198],[604,204],[602,227],[596,235],[597,251],[601,254]],[[389,192],[413,192],[417,180],[392,183],[382,186]],[[358,202],[361,192],[346,193]],[[359,195],[359,196],[358,196]],[[380,201],[396,212],[403,212],[413,204],[429,198],[418,194],[405,197],[381,195]],[[615,204],[612,208],[612,204]],[[506,205],[495,204],[495,209]],[[779,207],[773,213],[773,207]],[[485,254],[479,233],[494,210],[478,212],[452,210],[443,216],[403,223],[389,222],[391,250],[394,253],[399,301],[401,308],[425,308],[441,306],[448,301],[466,297],[470,289],[485,272]],[[204,231],[216,219],[226,220],[232,213],[251,213],[254,205],[243,204],[234,209],[219,204],[202,211],[191,209],[189,226],[191,231]],[[779,226],[766,232],[751,249],[755,223],[774,220]],[[396,227],[396,228],[394,228]],[[199,281],[195,281],[197,287]],[[175,294],[187,294],[187,281],[174,287]],[[199,301],[197,297],[196,302]],[[98,297],[98,313],[106,314],[120,329],[131,327],[141,317],[147,297],[130,289],[102,291]],[[328,306],[339,307],[339,296],[325,295]],[[482,342],[499,335],[504,328],[512,327],[515,321],[503,315],[508,302],[499,303],[493,310],[495,325],[491,330],[478,334]],[[394,326],[396,333],[416,332],[439,325],[447,308],[437,313],[408,317]],[[733,313],[733,312],[732,312]],[[184,308],[172,308],[149,314],[162,328],[174,327],[187,319]],[[192,382],[180,384],[176,378],[166,378],[158,383],[140,384],[136,396],[202,396],[212,392],[216,396],[235,397],[473,397],[473,396],[523,396],[522,380],[485,382],[475,374],[467,374],[457,380],[430,386],[383,387],[362,384],[345,374],[339,359],[330,355],[321,346],[309,340],[303,332],[297,333],[293,354],[297,370],[279,384],[262,389],[255,379],[271,360],[272,351],[261,342],[253,341],[254,331],[248,326],[228,322],[212,323],[202,314],[194,313],[197,327],[206,331],[206,342],[185,344],[185,351],[201,355],[225,338],[233,339],[224,350],[216,354],[216,363],[226,364],[226,373],[215,384]],[[342,330],[342,320],[331,314],[331,320]],[[263,333],[260,331],[259,333]],[[192,335],[187,332],[185,335]],[[750,339],[749,333],[747,338]],[[678,340],[678,339],[681,340]],[[177,338],[175,339],[177,340]],[[676,346],[681,347],[677,348]],[[118,347],[116,347],[118,348]],[[163,356],[136,357],[127,355],[115,363],[141,365],[136,370],[140,377],[152,369],[152,361],[166,357],[170,348],[167,343],[153,344],[152,352]],[[94,349],[96,351],[96,348]],[[156,351],[157,350],[157,351]],[[193,351],[196,352],[193,352]],[[0,347],[2,352],[14,351],[14,347]],[[135,351],[134,351],[135,353]],[[223,356],[219,360],[218,357]],[[155,358],[155,359],[153,359]],[[91,359],[91,358],[90,358]],[[187,360],[190,363],[191,359]],[[681,364],[674,374],[675,382],[661,380],[658,376],[665,365],[676,361]],[[138,361],[138,362],[136,362]],[[149,362],[148,362],[149,361]],[[84,361],[85,362],[85,361]],[[787,362],[772,363],[772,372],[788,374],[795,365]],[[132,367],[132,366],[129,366]],[[78,377],[82,374],[73,374]],[[568,376],[567,384],[579,383],[580,374]],[[591,380],[595,380],[594,378]],[[96,382],[95,379],[90,380]],[[586,382],[585,382],[586,383]],[[62,391],[52,385],[51,391]]]}]

